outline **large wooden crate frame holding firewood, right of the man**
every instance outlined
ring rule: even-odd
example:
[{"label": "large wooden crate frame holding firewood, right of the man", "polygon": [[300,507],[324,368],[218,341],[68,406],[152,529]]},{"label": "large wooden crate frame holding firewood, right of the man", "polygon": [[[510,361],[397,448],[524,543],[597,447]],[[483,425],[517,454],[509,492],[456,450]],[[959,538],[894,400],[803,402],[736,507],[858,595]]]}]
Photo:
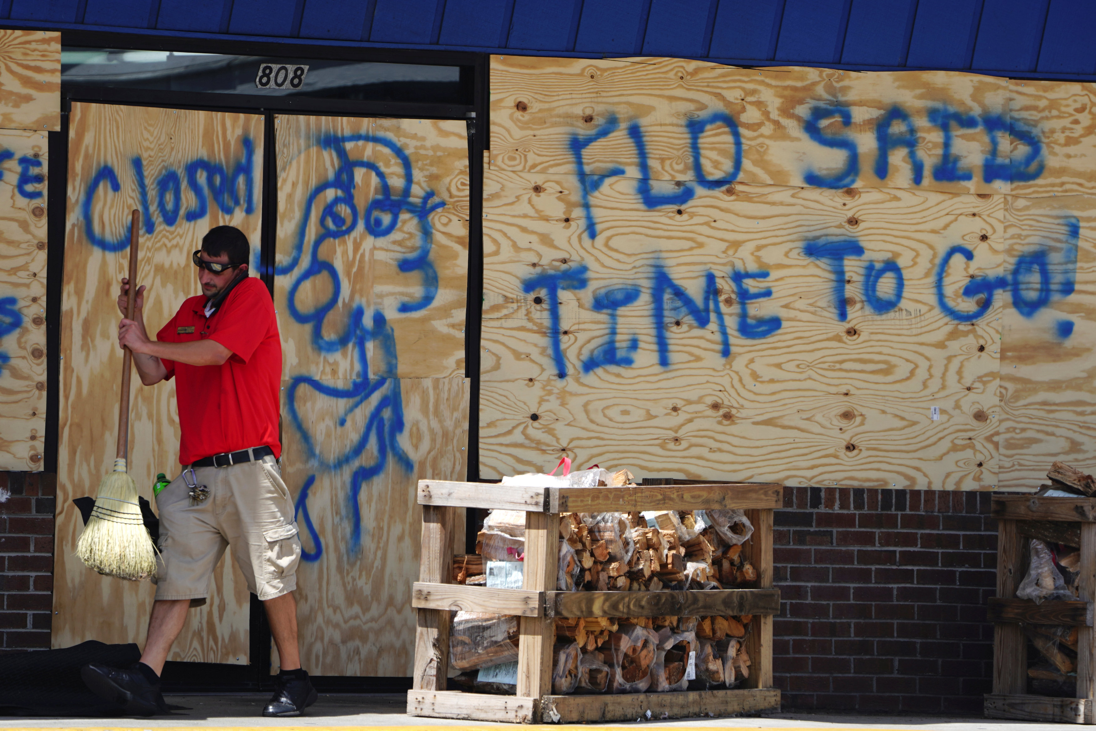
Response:
[{"label": "large wooden crate frame holding firewood, right of the man", "polygon": [[[773,615],[780,593],[773,586],[773,510],[784,490],[773,483],[722,483],[628,488],[523,488],[480,482],[421,480],[422,558],[412,606],[418,609],[414,685],[408,715],[516,723],[574,723],[731,716],[779,710],[773,687]],[[526,511],[523,589],[448,583],[456,507]],[[557,592],[561,513],[646,510],[740,509],[753,523],[742,556],[757,569],[760,589],[663,592]],[[449,612],[517,615],[520,647],[516,696],[447,690]],[[742,689],[623,695],[551,695],[556,617],[658,617],[754,615],[746,637],[752,660]]]}]

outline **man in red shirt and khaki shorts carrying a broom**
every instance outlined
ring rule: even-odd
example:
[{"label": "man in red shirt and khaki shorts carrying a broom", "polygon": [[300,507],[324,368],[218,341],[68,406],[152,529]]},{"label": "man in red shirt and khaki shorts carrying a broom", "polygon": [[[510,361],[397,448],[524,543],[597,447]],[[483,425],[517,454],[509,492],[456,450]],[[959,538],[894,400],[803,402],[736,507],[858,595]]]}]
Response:
[{"label": "man in red shirt and khaki shorts carrying a broom", "polygon": [[[270,293],[248,276],[250,251],[239,229],[210,229],[193,254],[202,295],[186,299],[150,340],[141,286],[134,319],[118,324],[118,343],[133,351],[144,385],[175,378],[184,469],[156,495],[160,556],[140,662],[125,670],[92,664],[82,676],[103,697],[144,716],[167,712],[163,663],[187,609],[205,604],[228,547],[248,589],[263,602],[281,660],[277,689],[263,716],[300,716],[316,701],[297,647],[293,591],[300,540],[277,464],[282,344]],[[122,279],[123,315],[128,289]]]}]

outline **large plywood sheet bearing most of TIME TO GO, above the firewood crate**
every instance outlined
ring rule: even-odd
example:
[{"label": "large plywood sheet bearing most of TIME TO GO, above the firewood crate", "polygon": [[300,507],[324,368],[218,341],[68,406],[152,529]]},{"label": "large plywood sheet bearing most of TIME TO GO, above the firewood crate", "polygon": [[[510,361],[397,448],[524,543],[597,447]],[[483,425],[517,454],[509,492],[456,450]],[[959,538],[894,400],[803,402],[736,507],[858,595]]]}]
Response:
[{"label": "large plywood sheet bearing most of TIME TO GO, above the firewood crate", "polygon": [[[639,477],[997,483],[1002,297],[962,292],[1000,274],[1002,196],[737,184],[648,210],[635,179],[600,183],[591,243],[589,181],[486,175],[483,477],[566,454]],[[970,261],[940,274],[955,245]],[[838,277],[842,247],[864,253]],[[892,308],[893,271],[866,286],[888,261]]]}]

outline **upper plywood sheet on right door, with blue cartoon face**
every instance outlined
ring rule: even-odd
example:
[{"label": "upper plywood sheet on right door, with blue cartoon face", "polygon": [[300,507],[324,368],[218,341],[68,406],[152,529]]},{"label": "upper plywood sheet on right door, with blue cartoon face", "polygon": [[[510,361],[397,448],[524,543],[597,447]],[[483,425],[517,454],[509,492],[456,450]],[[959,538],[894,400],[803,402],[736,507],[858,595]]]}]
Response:
[{"label": "upper plywood sheet on right door, with blue cartoon face", "polygon": [[[465,123],[278,115],[276,128],[286,373],[463,375]],[[344,346],[355,333],[365,373]]]}]

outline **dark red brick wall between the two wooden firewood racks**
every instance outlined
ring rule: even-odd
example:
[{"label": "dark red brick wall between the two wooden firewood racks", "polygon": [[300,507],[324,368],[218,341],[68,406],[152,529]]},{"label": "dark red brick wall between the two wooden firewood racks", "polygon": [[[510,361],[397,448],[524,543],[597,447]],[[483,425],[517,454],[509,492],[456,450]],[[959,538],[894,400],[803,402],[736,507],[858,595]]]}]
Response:
[{"label": "dark red brick wall between the two wooden firewood racks", "polygon": [[981,715],[990,493],[785,488],[774,532],[785,708]]}]

